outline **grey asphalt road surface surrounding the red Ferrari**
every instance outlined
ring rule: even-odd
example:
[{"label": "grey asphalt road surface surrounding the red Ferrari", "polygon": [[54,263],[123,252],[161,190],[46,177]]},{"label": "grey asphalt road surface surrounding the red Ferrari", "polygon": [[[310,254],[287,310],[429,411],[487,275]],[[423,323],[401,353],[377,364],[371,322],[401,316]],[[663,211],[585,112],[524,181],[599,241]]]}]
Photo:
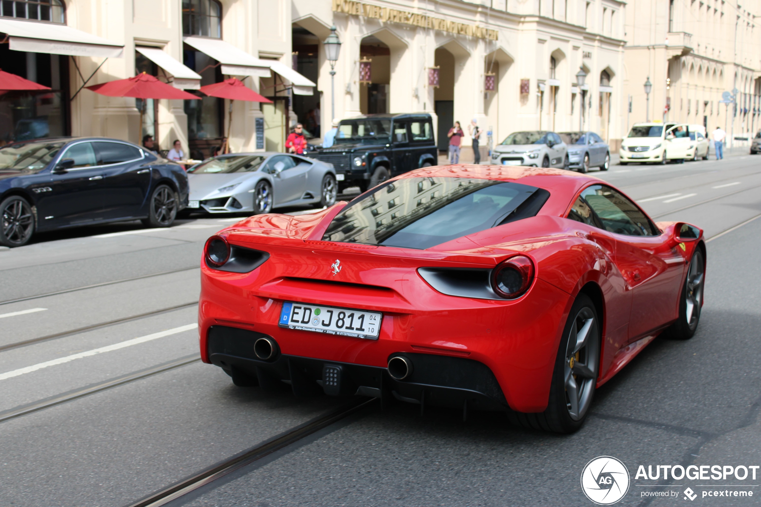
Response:
[{"label": "grey asphalt road surface surrounding the red Ferrari", "polygon": [[[702,505],[758,505],[761,471],[726,481],[635,472],[761,465],[759,160],[591,173],[655,220],[696,223],[711,239],[696,336],[656,339],[597,391],[575,435],[501,414],[463,423],[457,410],[370,407],[169,505],[593,505],[579,477],[600,455],[629,467],[619,505],[692,504],[687,486]],[[196,360],[196,266],[205,239],[234,220],[89,227],[0,251],[0,505],[129,505],[342,403],[236,388]],[[105,388],[135,373],[146,376]],[[4,420],[93,386],[103,389]],[[702,497],[716,486],[756,496]]]}]

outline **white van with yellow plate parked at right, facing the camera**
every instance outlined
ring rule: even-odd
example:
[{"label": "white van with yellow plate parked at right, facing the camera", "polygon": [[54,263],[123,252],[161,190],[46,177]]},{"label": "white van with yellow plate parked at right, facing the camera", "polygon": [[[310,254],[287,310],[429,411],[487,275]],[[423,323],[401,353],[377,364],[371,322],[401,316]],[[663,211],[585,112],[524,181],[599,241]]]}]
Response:
[{"label": "white van with yellow plate parked at right, facing the camera", "polygon": [[[619,163],[683,163],[694,148],[685,123],[635,123],[622,141]],[[694,156],[694,155],[693,155]]]}]

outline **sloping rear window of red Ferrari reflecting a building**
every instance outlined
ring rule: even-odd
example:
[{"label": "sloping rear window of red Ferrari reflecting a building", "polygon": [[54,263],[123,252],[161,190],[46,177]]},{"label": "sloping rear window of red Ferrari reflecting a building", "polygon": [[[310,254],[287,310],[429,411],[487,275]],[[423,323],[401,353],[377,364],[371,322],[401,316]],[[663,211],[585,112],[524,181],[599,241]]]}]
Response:
[{"label": "sloping rear window of red Ferrari reflecting a building", "polygon": [[427,249],[537,214],[549,192],[514,182],[405,178],[361,195],[323,240]]}]

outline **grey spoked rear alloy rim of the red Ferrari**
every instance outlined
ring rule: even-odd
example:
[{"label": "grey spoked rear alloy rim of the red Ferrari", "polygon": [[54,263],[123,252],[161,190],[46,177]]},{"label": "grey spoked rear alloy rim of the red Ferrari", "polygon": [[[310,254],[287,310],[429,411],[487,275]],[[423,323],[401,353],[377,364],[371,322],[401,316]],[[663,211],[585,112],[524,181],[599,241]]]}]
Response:
[{"label": "grey spoked rear alloy rim of the red Ferrari", "polygon": [[565,404],[572,420],[580,420],[591,405],[599,363],[597,319],[584,306],[576,314],[565,352]]}]

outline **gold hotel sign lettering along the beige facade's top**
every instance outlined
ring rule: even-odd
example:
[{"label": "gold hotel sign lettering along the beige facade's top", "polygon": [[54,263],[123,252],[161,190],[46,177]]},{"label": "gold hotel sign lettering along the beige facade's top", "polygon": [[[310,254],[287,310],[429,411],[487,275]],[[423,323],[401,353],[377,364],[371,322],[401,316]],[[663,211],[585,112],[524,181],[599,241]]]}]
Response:
[{"label": "gold hotel sign lettering along the beige facade's top", "polygon": [[333,0],[333,12],[371,17],[390,23],[411,24],[416,27],[432,28],[442,32],[457,33],[479,39],[497,40],[497,30],[489,30],[474,24],[447,21],[439,17],[430,17],[415,12],[396,11],[396,9],[363,4],[353,0]]}]

